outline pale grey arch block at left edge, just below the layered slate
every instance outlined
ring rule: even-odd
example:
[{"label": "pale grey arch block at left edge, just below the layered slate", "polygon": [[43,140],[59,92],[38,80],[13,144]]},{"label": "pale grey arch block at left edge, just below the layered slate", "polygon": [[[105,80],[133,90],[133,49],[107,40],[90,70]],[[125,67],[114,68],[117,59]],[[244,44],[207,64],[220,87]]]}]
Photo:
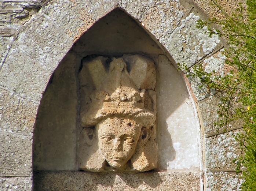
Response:
[{"label": "pale grey arch block at left edge, just below the layered slate", "polygon": [[17,46],[12,45],[8,53],[8,59],[6,59],[0,71],[0,86],[17,93],[21,97],[39,101],[45,90],[42,84],[47,85],[51,72],[47,67],[26,55]]}]

